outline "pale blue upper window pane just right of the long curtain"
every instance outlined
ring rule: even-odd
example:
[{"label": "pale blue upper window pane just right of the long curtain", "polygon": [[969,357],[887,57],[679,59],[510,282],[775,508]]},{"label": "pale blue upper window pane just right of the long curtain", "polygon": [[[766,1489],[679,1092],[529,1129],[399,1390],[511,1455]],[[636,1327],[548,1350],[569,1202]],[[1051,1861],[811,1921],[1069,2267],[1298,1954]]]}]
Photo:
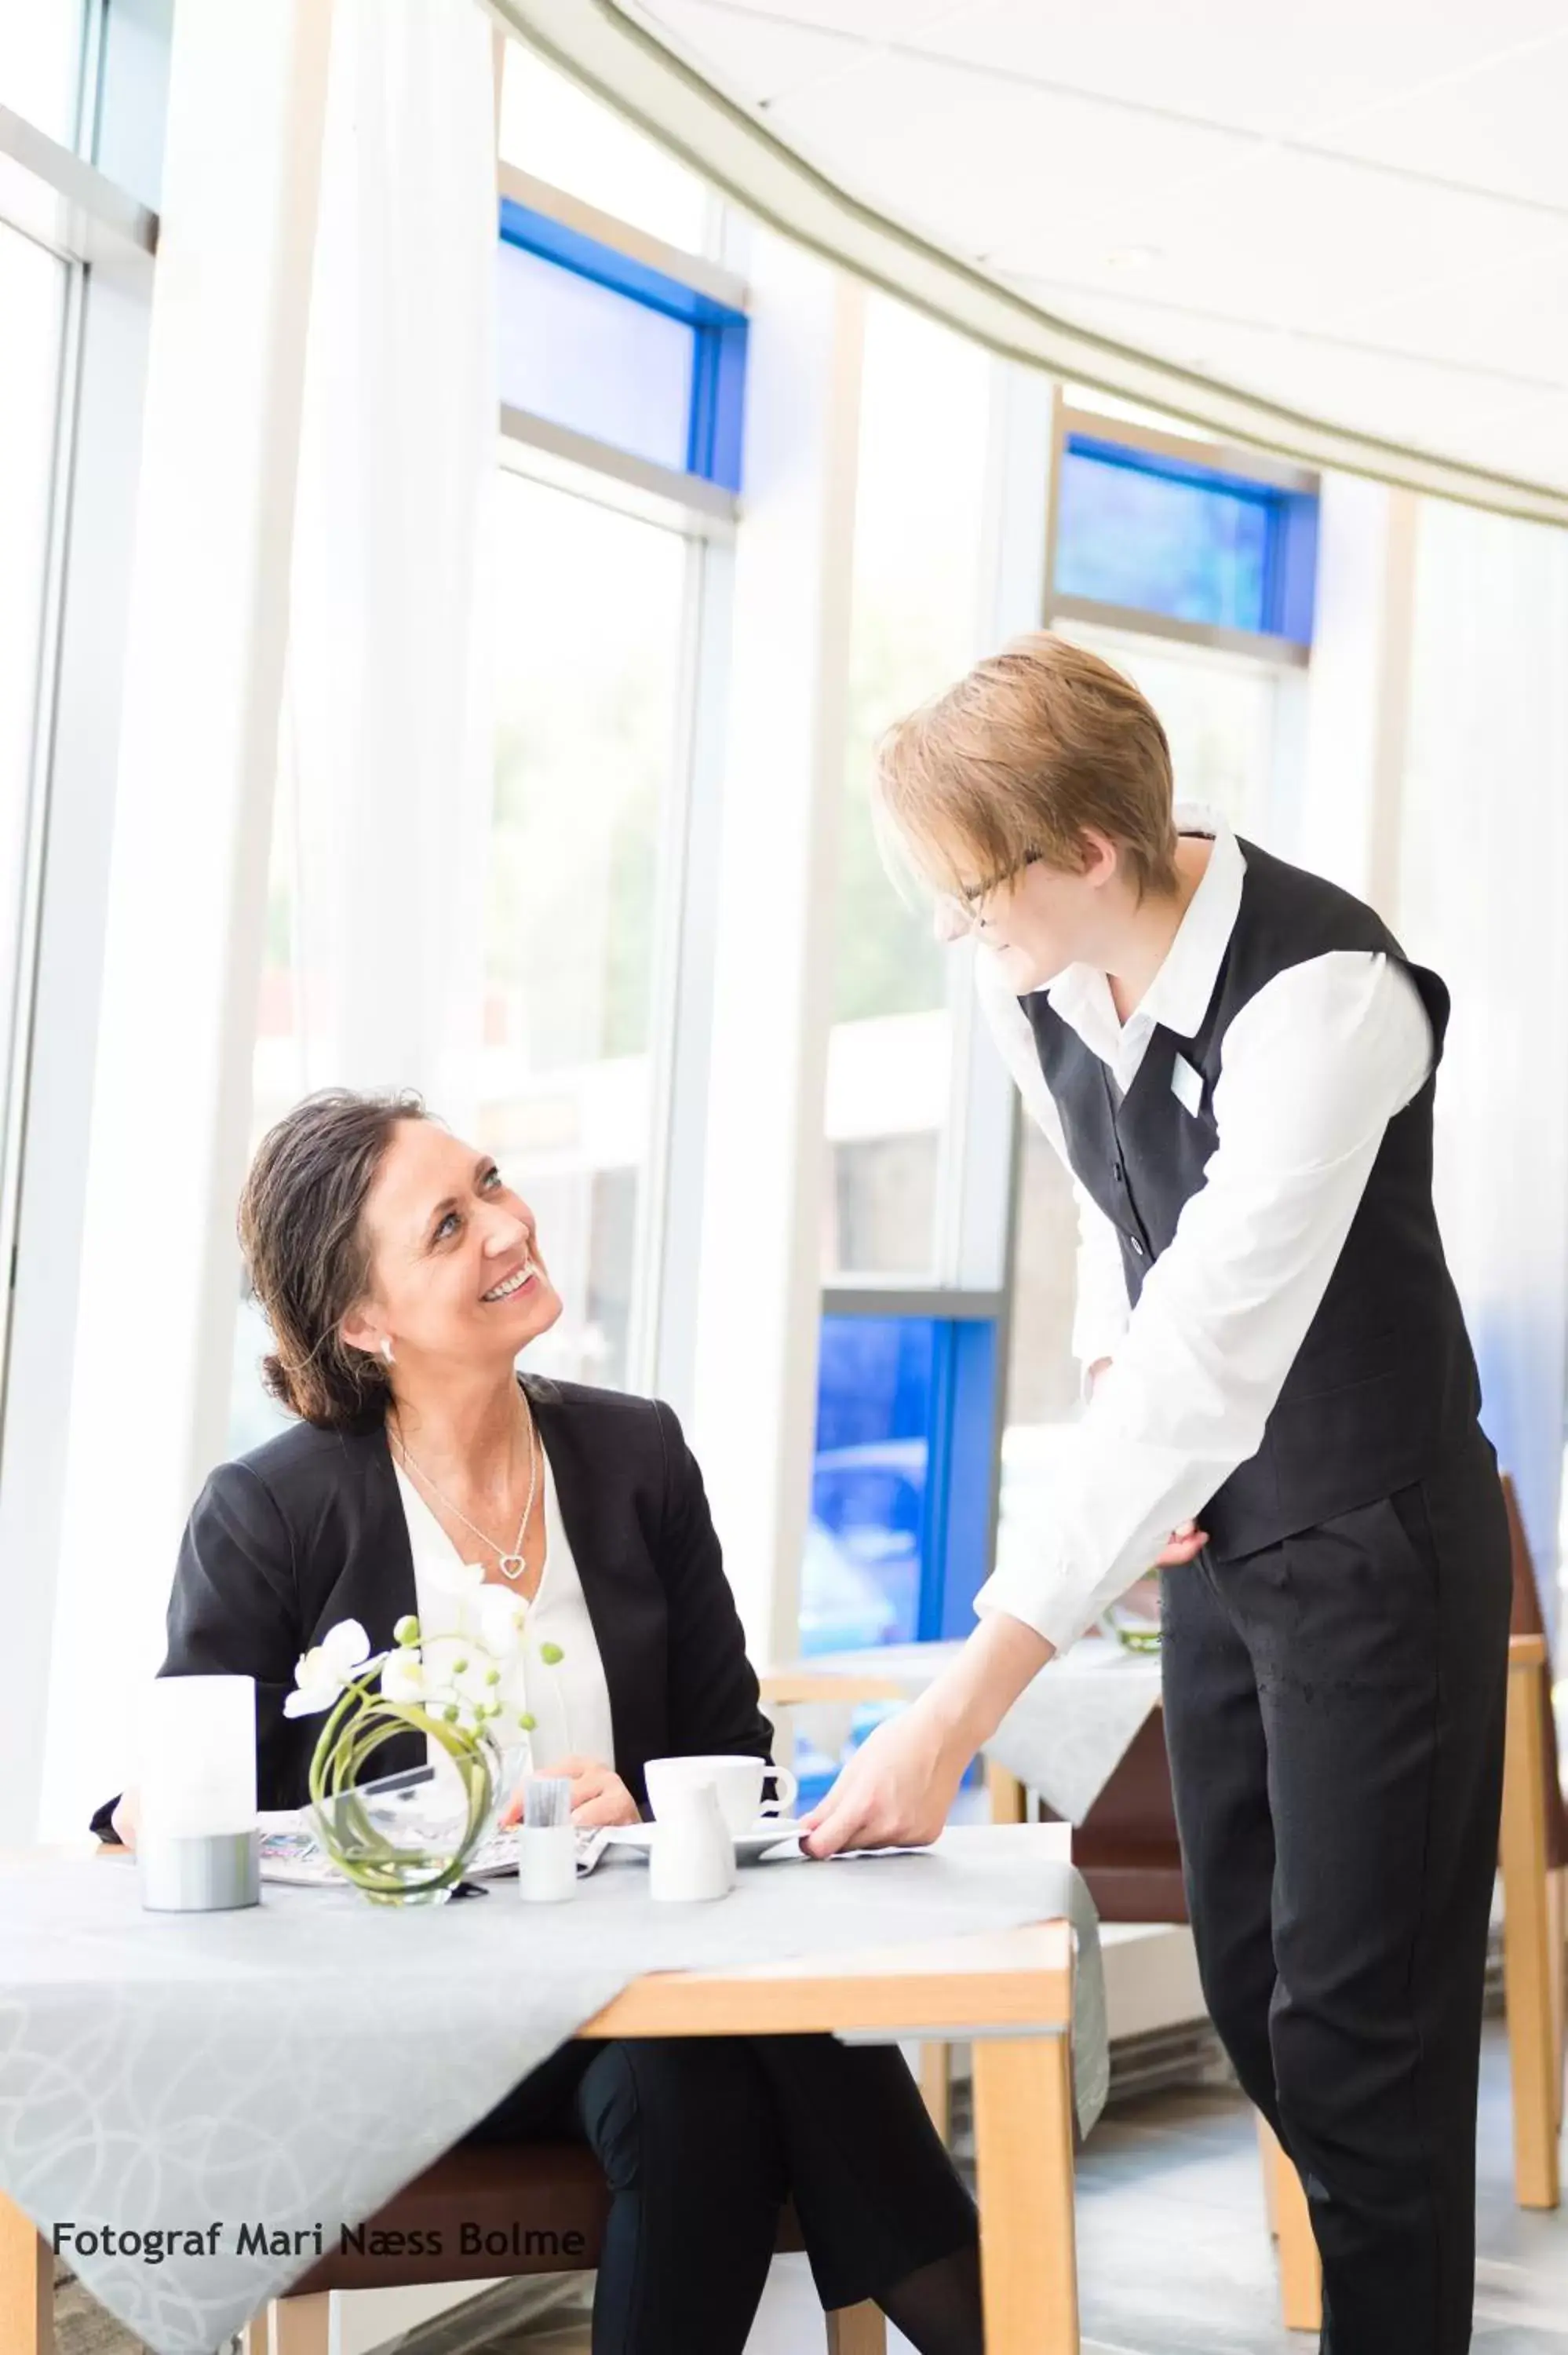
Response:
[{"label": "pale blue upper window pane just right of the long curtain", "polygon": [[695,330],[520,245],[497,266],[501,400],[683,471]]}]

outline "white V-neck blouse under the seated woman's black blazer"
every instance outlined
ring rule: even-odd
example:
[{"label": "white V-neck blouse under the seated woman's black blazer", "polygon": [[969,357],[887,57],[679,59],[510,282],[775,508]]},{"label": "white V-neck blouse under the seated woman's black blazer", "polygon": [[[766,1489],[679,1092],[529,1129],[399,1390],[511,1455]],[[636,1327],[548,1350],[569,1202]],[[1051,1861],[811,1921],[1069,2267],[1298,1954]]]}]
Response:
[{"label": "white V-neck blouse under the seated woman's black blazer", "polygon": [[[614,1766],[614,1726],[610,1722],[605,1663],[593,1641],[582,1578],[577,1575],[572,1545],[560,1519],[551,1460],[544,1448],[539,1448],[539,1455],[544,1458],[544,1571],[539,1575],[539,1592],[527,1606],[518,1677],[516,1681],[509,1679],[509,1698],[516,1693],[518,1705],[537,1719],[532,1736],[527,1736],[530,1759],[520,1762],[520,1766],[523,1771],[544,1771],[556,1759],[572,1754]],[[407,1545],[414,1557],[419,1627],[436,1634],[443,1627],[443,1571],[469,1557],[452,1545],[403,1465],[393,1462],[393,1472],[398,1474]],[[483,1550],[476,1540],[473,1557],[480,1554]],[[553,1665],[542,1660],[539,1651],[544,1644],[558,1644],[560,1660]]]}]

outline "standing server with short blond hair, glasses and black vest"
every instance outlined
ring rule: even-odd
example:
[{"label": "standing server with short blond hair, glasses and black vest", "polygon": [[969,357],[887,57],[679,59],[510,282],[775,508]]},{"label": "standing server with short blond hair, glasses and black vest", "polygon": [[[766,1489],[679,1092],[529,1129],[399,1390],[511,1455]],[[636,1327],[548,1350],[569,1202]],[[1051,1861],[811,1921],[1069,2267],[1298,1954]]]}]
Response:
[{"label": "standing server with short blond hair, glasses and black vest", "polygon": [[1203,1992],[1307,2185],[1321,2343],[1460,2355],[1509,1540],[1431,1208],[1448,991],[1349,893],[1172,810],[1144,697],[1048,633],[899,723],[878,796],[1074,1175],[1092,1394],[1036,1559],[810,1846],[932,1839],[1158,1559]]}]

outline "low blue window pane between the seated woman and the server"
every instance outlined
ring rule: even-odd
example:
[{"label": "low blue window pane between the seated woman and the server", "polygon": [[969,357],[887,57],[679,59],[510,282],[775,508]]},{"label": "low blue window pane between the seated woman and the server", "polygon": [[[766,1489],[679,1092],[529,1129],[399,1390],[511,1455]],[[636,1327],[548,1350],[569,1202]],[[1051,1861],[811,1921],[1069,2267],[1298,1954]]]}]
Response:
[{"label": "low blue window pane between the seated woman and the server", "polygon": [[930,1316],[824,1316],[800,1651],[911,1644],[939,1342]]}]

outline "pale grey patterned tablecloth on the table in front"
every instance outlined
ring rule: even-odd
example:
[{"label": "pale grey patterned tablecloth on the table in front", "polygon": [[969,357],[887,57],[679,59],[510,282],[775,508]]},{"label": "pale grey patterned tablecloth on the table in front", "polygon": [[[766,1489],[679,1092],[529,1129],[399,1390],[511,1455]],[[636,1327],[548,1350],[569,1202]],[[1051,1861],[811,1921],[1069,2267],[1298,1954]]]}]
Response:
[{"label": "pale grey patterned tablecloth on the table in front", "polygon": [[1107,2087],[1099,1941],[1052,1846],[1050,1827],[977,1827],[911,1856],[756,1865],[716,1905],[655,1905],[645,1865],[622,1860],[567,1905],[525,1905],[513,1882],[417,1910],[268,1884],[231,1915],[144,1912],[129,1860],[9,1860],[0,2190],[45,2237],[202,2235],[155,2263],[80,2240],[64,2254],[155,2355],[212,2355],[313,2261],[308,2237],[242,2251],[240,2228],[337,2247],[643,1971],[1048,1917],[1078,1931],[1088,2131]]}]

